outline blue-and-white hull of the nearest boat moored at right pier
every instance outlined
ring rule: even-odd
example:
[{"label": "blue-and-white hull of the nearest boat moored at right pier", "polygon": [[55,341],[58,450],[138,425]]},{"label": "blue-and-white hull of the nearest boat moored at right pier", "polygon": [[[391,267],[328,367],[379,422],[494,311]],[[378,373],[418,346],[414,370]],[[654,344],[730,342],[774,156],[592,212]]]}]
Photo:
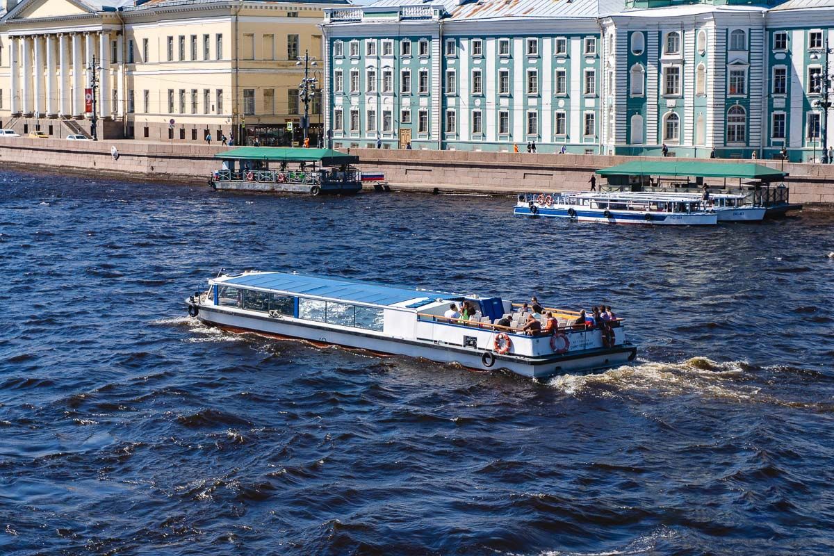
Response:
[{"label": "blue-and-white hull of the nearest boat moored at right pier", "polygon": [[[522,216],[544,216],[549,218],[570,218],[580,222],[599,222],[608,224],[650,224],[656,226],[711,226],[718,222],[714,213],[638,213],[631,211],[610,210],[610,217],[605,210],[595,208],[575,208],[563,205],[552,207],[535,206],[533,213],[529,205],[516,205],[515,214]],[[575,211],[573,216],[569,210]]]}]

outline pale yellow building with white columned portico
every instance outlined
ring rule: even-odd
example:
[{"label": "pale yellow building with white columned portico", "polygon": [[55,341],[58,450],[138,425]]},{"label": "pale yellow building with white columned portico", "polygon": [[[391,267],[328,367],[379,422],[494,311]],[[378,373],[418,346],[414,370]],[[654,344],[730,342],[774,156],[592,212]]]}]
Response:
[{"label": "pale yellow building with white columned portico", "polygon": [[[324,8],[271,0],[5,0],[0,10],[0,127],[52,137],[241,143],[299,141],[299,83],[322,83]],[[94,64],[93,64],[94,60]],[[318,90],[310,135],[322,129]],[[173,123],[172,123],[173,122]],[[293,123],[292,132],[288,123]]]}]

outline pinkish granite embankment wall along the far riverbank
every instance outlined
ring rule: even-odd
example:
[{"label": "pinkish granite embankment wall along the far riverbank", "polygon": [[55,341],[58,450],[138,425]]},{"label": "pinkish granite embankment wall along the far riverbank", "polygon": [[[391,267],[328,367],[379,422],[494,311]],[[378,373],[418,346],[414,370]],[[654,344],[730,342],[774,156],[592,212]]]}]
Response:
[{"label": "pinkish granite embankment wall along the far riverbank", "polygon": [[[118,149],[118,160],[111,148]],[[218,168],[214,154],[226,147],[141,141],[75,142],[60,139],[0,139],[0,166],[53,168],[122,175],[132,179],[206,183]],[[383,172],[395,190],[514,194],[588,188],[597,168],[633,158],[578,154],[477,153],[353,149],[365,171]],[[662,158],[647,158],[662,160]],[[668,160],[668,159],[667,159]],[[745,161],[726,161],[745,162]],[[750,162],[750,161],[746,161]],[[757,161],[780,168],[778,161]],[[834,209],[834,164],[784,165],[791,202]],[[604,181],[604,180],[600,180]],[[735,184],[736,180],[728,180]]]}]

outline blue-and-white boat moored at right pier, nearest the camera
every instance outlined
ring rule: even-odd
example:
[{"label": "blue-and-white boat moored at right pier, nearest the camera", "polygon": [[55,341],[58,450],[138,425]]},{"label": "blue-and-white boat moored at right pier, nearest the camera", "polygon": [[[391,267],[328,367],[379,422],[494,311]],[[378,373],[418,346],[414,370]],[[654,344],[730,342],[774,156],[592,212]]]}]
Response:
[{"label": "blue-and-white boat moored at right pier, nearest the camera", "polygon": [[586,222],[701,226],[718,222],[700,198],[634,197],[633,193],[521,193],[515,214]]}]

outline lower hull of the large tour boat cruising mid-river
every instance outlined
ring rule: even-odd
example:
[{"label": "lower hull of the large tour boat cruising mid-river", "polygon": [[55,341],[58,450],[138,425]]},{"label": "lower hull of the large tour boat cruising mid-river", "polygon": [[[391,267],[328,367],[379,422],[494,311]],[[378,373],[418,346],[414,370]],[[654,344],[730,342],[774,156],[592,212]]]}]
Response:
[{"label": "lower hull of the large tour boat cruising mid-river", "polygon": [[[345,332],[325,328],[314,323],[289,319],[255,317],[232,313],[214,305],[200,305],[197,318],[208,325],[232,331],[264,334],[276,338],[295,338],[315,344],[339,345],[374,353],[424,358],[437,363],[459,363],[467,368],[495,370],[505,368],[529,378],[546,378],[558,374],[590,373],[605,368],[619,367],[636,356],[636,347],[622,344],[613,348],[595,348],[546,358],[514,357],[492,353],[495,358],[485,364],[484,349],[462,346],[439,346],[420,339],[385,338],[370,333]],[[489,362],[490,359],[486,358]]]}]

